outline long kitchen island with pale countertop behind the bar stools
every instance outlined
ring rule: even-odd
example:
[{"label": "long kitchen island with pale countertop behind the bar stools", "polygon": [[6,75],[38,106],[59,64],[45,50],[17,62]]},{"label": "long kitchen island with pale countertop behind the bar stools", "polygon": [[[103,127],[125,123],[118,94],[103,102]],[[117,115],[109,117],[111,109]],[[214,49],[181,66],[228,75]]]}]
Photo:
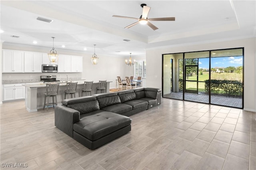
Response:
[{"label": "long kitchen island with pale countertop behind the bar stools", "polygon": [[[80,81],[72,81],[78,82],[76,88],[76,97],[81,97],[82,88],[84,88],[84,80]],[[109,92],[109,83],[112,81],[107,81],[105,86],[105,92]],[[38,109],[42,109],[44,107],[44,93],[46,92],[46,83],[28,83],[23,84],[25,86],[25,103],[26,109],[28,112],[36,112]],[[96,87],[99,86],[99,83],[93,83],[92,85],[92,95],[96,94]],[[64,100],[64,91],[66,90],[66,83],[60,82],[57,102],[58,105],[61,105],[61,101]],[[98,91],[98,93],[100,93]],[[85,93],[83,94],[85,95]],[[74,96],[74,95],[73,95]],[[69,95],[71,98],[71,95]],[[68,96],[66,96],[68,98]],[[51,103],[52,99],[49,98],[49,102]]]}]

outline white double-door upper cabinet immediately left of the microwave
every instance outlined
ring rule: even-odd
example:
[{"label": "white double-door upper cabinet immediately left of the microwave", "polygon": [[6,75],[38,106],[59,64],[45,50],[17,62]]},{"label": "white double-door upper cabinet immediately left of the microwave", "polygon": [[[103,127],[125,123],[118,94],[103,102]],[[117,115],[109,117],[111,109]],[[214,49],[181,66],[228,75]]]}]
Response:
[{"label": "white double-door upper cabinet immediately left of the microwave", "polygon": [[24,52],[24,72],[42,72],[42,53]]}]

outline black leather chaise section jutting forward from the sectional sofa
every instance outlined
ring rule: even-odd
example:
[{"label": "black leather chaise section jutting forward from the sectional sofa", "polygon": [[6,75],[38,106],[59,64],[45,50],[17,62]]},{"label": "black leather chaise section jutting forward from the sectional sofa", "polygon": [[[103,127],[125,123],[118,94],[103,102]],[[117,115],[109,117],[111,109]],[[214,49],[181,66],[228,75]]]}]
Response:
[{"label": "black leather chaise section jutting forward from the sectional sofa", "polygon": [[89,149],[96,149],[131,130],[132,119],[102,111],[85,116],[73,125],[73,138]]}]

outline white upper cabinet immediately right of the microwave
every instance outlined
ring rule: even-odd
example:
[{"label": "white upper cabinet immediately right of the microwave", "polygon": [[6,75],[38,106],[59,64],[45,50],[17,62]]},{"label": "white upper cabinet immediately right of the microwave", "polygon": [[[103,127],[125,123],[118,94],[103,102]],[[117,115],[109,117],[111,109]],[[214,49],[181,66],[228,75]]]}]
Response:
[{"label": "white upper cabinet immediately right of the microwave", "polygon": [[71,72],[71,56],[59,55],[58,73],[70,73],[70,72]]}]

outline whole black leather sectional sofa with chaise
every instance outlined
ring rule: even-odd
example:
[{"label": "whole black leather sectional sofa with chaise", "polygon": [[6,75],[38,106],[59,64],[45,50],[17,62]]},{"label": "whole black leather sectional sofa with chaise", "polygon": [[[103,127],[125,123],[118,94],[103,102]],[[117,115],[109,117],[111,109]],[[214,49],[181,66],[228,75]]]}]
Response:
[{"label": "whole black leather sectional sofa with chaise", "polygon": [[55,107],[55,126],[96,149],[131,130],[128,117],[161,104],[161,90],[137,88],[65,99]]}]

